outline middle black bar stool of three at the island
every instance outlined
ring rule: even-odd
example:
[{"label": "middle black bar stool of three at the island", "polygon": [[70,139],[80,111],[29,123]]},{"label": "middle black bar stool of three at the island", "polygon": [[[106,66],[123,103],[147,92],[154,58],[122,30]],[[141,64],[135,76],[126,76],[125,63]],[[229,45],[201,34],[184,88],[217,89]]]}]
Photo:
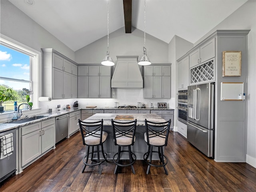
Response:
[{"label": "middle black bar stool of three at the island", "polygon": [[[129,122],[117,122],[112,119],[111,123],[113,128],[114,144],[118,146],[118,152],[113,156],[113,161],[116,164],[114,174],[118,172],[119,166],[121,167],[131,166],[132,173],[135,174],[133,164],[136,161],[136,155],[131,151],[131,146],[134,145],[134,141],[135,141],[137,119]],[[121,147],[125,147],[125,146],[128,146],[128,151],[121,150]],[[128,152],[129,154],[130,163],[128,164],[120,163],[121,153],[124,153],[124,152]],[[117,158],[115,159],[116,155],[117,155]]]}]

